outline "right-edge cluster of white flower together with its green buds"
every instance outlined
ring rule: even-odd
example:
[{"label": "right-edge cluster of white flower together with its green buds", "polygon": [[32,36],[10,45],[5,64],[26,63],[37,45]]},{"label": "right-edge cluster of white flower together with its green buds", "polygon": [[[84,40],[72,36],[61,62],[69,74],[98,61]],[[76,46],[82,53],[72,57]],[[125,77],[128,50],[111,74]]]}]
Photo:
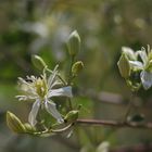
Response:
[{"label": "right-edge cluster of white flower together with its green buds", "polygon": [[137,91],[142,86],[148,90],[152,86],[152,50],[134,51],[128,47],[122,48],[122,55],[117,62],[122,77],[126,79],[131,90]]}]

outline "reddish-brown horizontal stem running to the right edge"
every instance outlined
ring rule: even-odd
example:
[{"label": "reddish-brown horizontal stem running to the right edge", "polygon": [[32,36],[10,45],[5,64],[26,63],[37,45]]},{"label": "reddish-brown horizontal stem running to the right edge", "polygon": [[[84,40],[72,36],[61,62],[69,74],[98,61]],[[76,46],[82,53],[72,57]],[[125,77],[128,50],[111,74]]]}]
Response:
[{"label": "reddish-brown horizontal stem running to the right edge", "polygon": [[138,124],[116,121],[102,121],[102,119],[77,119],[78,125],[93,125],[93,126],[111,126],[111,127],[129,127],[129,128],[142,128],[152,129],[152,123]]}]

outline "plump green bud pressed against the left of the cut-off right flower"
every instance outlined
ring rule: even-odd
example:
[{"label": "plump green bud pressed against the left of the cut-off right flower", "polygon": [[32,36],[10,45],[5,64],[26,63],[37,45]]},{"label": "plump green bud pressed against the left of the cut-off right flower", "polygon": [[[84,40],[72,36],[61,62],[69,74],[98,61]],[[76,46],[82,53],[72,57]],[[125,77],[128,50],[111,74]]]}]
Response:
[{"label": "plump green bud pressed against the left of the cut-off right flower", "polygon": [[128,78],[130,76],[130,64],[127,56],[123,53],[119,61],[117,62],[117,66],[122,77]]}]

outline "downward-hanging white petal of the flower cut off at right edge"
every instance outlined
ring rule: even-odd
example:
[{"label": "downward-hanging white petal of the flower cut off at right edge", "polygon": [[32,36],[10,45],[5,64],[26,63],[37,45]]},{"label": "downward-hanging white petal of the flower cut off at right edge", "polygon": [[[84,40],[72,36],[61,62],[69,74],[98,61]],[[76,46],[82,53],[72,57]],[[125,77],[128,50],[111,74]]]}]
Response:
[{"label": "downward-hanging white petal of the flower cut off at right edge", "polygon": [[145,90],[148,90],[152,86],[152,73],[141,72],[140,74],[142,86]]}]

